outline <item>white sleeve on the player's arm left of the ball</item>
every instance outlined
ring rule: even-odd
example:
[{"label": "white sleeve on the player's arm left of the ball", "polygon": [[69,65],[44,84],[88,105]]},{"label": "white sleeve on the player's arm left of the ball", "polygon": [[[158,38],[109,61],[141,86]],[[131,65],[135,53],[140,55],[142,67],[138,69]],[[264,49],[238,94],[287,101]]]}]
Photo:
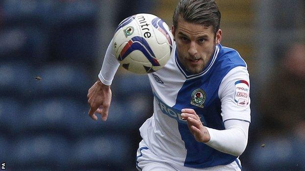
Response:
[{"label": "white sleeve on the player's arm left of the ball", "polygon": [[117,61],[113,55],[114,52],[112,44],[111,40],[104,57],[102,69],[98,75],[102,83],[105,85],[111,85],[113,77],[120,66],[119,61]]}]

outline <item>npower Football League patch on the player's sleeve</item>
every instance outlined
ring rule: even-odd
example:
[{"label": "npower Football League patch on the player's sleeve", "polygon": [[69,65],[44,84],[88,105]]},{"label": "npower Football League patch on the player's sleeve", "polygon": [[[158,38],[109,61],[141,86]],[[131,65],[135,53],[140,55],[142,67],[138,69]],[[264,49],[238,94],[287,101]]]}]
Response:
[{"label": "npower Football League patch on the player's sleeve", "polygon": [[249,103],[250,88],[249,83],[245,80],[235,82],[234,100],[238,106],[247,106]]}]

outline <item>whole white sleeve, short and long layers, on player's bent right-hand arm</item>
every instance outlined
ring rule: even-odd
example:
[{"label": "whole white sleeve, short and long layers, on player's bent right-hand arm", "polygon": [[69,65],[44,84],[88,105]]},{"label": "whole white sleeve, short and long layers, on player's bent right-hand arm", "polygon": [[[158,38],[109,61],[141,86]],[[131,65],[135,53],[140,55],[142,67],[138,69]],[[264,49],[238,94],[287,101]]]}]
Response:
[{"label": "whole white sleeve, short and long layers, on player's bent right-hand arm", "polygon": [[226,130],[207,128],[211,139],[206,144],[220,152],[239,156],[246,148],[250,117],[250,84],[246,67],[232,69],[222,79],[218,96]]}]

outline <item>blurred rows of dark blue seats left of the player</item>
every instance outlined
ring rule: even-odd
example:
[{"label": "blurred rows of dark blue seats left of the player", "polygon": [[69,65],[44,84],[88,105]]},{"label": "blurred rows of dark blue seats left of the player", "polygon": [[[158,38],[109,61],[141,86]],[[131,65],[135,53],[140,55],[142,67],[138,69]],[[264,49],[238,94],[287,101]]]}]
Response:
[{"label": "blurred rows of dark blue seats left of the player", "polygon": [[133,133],[152,114],[147,76],[115,78],[107,122],[87,114],[101,57],[99,3],[0,1],[0,162],[7,170],[134,169]]}]

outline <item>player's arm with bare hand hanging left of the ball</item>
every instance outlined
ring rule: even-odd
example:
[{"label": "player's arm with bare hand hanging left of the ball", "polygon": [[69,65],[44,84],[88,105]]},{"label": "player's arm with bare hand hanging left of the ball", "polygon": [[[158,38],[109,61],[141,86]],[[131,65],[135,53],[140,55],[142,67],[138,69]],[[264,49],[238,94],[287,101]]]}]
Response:
[{"label": "player's arm with bare hand hanging left of the ball", "polygon": [[99,80],[88,90],[87,98],[90,106],[88,114],[94,120],[97,120],[95,113],[101,114],[102,120],[107,120],[111,101],[110,85],[119,66],[119,62],[113,56],[111,40],[104,57],[102,69],[99,73]]}]

